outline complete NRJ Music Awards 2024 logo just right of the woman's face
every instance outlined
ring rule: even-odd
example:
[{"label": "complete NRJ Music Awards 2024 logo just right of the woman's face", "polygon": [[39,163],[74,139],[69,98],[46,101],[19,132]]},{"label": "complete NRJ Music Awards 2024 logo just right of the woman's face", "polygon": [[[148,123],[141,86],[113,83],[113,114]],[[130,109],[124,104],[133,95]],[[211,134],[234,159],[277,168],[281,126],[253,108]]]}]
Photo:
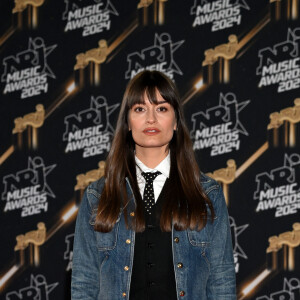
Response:
[{"label": "complete NRJ Music Awards 2024 logo just right of the woman's face", "polygon": [[249,102],[238,103],[234,93],[220,93],[217,106],[192,114],[194,150],[209,148],[211,156],[239,150],[240,134],[248,135],[239,114]]}]

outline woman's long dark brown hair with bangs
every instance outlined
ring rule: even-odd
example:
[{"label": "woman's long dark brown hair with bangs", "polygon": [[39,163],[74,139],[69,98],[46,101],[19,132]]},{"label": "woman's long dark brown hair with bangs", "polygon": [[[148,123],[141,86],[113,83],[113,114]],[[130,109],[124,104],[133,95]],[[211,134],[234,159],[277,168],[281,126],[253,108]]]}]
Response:
[{"label": "woman's long dark brown hair with bangs", "polygon": [[[151,103],[157,104],[156,92],[175,111],[177,130],[169,143],[171,156],[171,188],[160,217],[162,231],[203,228],[210,215],[214,219],[211,201],[200,183],[200,171],[195,160],[192,142],[185,125],[180,97],[175,84],[163,73],[143,71],[127,85],[124,93],[115,136],[106,160],[105,184],[98,205],[95,230],[109,232],[115,225],[121,209],[128,227],[141,232],[145,229],[143,203],[136,179],[135,144],[128,127],[128,113],[135,104],[144,103],[145,94]],[[136,200],[134,221],[128,222],[126,180],[128,178]]]}]

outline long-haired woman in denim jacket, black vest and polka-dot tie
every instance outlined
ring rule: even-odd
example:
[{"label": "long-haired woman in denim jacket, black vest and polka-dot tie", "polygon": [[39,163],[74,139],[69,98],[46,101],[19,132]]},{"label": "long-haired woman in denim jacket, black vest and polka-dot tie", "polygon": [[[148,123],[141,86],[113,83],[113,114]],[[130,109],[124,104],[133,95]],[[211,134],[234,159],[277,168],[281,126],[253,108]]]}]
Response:
[{"label": "long-haired woman in denim jacket, black vest and polka-dot tie", "polygon": [[86,190],[72,299],[236,299],[227,208],[200,173],[174,83],[128,84],[105,178]]}]

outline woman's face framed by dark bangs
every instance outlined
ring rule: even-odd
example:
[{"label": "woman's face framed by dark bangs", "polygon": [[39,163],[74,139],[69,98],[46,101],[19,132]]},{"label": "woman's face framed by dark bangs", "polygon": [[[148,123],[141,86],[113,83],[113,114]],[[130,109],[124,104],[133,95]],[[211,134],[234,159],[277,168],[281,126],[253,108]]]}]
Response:
[{"label": "woman's face framed by dark bangs", "polygon": [[129,130],[137,148],[166,149],[176,130],[176,117],[173,106],[156,92],[157,104],[150,103],[147,95],[144,104],[135,104],[128,115]]}]

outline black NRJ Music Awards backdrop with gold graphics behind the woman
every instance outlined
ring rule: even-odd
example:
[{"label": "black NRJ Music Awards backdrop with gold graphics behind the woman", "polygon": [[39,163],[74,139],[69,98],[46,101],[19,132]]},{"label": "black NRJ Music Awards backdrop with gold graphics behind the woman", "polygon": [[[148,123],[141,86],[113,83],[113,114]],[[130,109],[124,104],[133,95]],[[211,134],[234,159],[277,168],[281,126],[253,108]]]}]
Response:
[{"label": "black NRJ Music Awards backdrop with gold graphics behind the woman", "polygon": [[238,299],[299,300],[299,14],[299,0],[1,1],[0,298],[70,299],[82,193],[149,69],[176,82],[223,187]]}]

